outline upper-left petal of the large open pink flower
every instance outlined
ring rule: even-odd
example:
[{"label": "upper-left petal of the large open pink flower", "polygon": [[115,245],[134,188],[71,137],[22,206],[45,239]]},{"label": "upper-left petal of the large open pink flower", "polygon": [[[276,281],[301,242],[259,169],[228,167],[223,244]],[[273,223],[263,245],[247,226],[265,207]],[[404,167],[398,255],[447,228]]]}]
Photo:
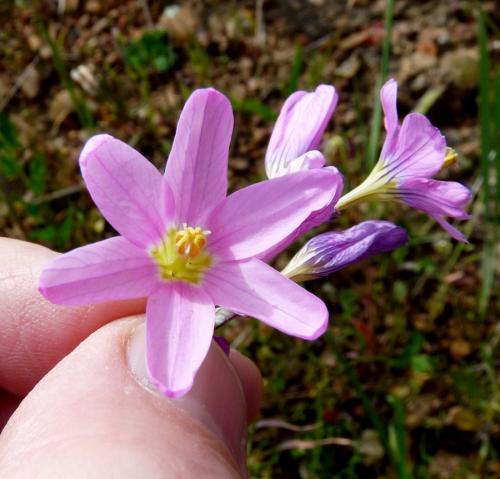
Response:
[{"label": "upper-left petal of the large open pink flower", "polygon": [[110,224],[137,246],[156,242],[165,232],[162,175],[139,152],[109,135],[92,137],[80,155],[92,199]]}]

